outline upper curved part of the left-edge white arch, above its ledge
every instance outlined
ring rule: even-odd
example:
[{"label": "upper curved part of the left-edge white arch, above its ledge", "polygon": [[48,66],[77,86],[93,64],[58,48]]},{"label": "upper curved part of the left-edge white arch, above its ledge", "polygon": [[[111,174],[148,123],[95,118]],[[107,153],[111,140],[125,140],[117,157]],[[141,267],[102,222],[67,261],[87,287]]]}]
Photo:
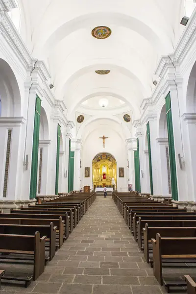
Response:
[{"label": "upper curved part of the left-edge white arch, above its ledge", "polygon": [[21,95],[15,74],[9,64],[0,58],[1,117],[21,116]]}]

